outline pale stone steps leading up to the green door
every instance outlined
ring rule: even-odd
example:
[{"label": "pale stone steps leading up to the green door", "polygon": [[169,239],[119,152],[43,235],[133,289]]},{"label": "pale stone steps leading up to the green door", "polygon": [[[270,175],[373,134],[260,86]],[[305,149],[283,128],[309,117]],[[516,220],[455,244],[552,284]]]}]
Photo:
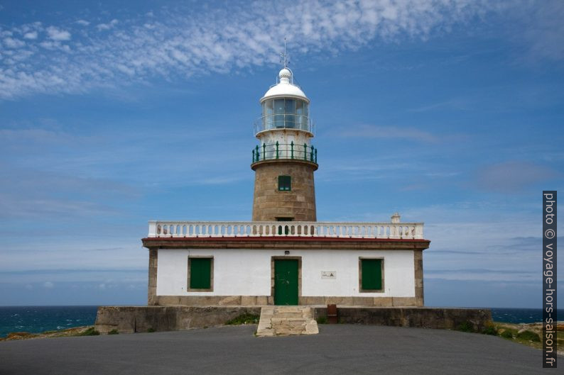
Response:
[{"label": "pale stone steps leading up to the green door", "polygon": [[318,323],[313,308],[298,306],[266,306],[261,308],[257,336],[315,335]]}]

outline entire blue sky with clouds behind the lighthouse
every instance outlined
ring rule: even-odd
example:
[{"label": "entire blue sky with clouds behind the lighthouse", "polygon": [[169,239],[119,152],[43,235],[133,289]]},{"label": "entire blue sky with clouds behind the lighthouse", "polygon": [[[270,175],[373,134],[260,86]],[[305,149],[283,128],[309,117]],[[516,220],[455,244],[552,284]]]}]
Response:
[{"label": "entire blue sky with clouds behind the lighthouse", "polygon": [[424,221],[428,306],[541,306],[561,1],[44,3],[0,1],[1,305],[144,304],[147,220],[250,220],[286,37],[318,220]]}]

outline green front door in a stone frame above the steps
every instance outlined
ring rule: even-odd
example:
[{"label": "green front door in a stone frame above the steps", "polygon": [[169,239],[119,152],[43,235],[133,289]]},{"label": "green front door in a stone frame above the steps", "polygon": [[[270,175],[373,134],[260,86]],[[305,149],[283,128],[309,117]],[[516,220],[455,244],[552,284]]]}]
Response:
[{"label": "green front door in a stone frame above the steps", "polygon": [[298,259],[274,259],[274,304],[298,305]]}]

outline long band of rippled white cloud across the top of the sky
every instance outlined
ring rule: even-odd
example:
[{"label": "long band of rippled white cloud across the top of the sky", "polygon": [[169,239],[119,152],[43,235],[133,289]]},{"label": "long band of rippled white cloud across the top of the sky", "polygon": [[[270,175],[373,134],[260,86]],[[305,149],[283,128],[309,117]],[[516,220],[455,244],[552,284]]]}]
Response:
[{"label": "long band of rippled white cloud across the top of the sky", "polygon": [[[0,99],[276,63],[284,37],[301,55],[356,49],[376,39],[426,39],[502,7],[470,0],[291,4],[264,2],[202,12],[162,9],[156,16],[114,19],[96,28],[86,28],[90,21],[81,19],[0,29],[10,38],[0,47]],[[26,35],[33,43],[22,44]]]}]

